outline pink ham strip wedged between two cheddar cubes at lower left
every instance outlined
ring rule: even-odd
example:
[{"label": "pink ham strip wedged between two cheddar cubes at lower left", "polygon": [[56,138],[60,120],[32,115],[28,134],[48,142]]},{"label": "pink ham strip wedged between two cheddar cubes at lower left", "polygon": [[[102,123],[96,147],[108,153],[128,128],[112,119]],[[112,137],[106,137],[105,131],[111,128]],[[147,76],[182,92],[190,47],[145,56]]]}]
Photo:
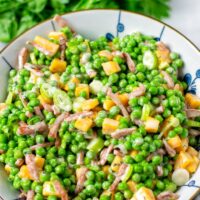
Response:
[{"label": "pink ham strip wedged between two cheddar cubes at lower left", "polygon": [[35,155],[33,154],[26,154],[25,155],[25,162],[26,165],[31,172],[31,176],[35,181],[39,181],[39,169],[35,163]]}]

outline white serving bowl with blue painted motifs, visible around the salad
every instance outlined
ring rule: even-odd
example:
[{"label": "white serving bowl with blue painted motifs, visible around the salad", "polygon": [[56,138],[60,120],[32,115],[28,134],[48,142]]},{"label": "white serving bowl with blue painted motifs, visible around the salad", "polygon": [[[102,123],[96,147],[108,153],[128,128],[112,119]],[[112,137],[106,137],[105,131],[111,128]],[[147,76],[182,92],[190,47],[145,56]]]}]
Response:
[{"label": "white serving bowl with blue painted motifs, visible around the salad", "polygon": [[[89,39],[102,35],[112,39],[113,36],[123,37],[139,31],[163,41],[172,51],[180,53],[185,63],[180,75],[188,82],[188,91],[200,96],[200,51],[185,36],[167,24],[141,14],[120,10],[86,10],[68,13],[63,17],[76,32]],[[0,52],[0,102],[6,96],[8,73],[16,66],[19,49],[35,35],[46,36],[54,29],[58,27],[52,19],[49,19],[20,35]],[[180,195],[180,200],[189,200],[197,194],[199,188],[200,167],[177,193]],[[18,197],[18,192],[7,181],[2,168],[0,168],[0,197],[4,200],[14,200]]]}]

